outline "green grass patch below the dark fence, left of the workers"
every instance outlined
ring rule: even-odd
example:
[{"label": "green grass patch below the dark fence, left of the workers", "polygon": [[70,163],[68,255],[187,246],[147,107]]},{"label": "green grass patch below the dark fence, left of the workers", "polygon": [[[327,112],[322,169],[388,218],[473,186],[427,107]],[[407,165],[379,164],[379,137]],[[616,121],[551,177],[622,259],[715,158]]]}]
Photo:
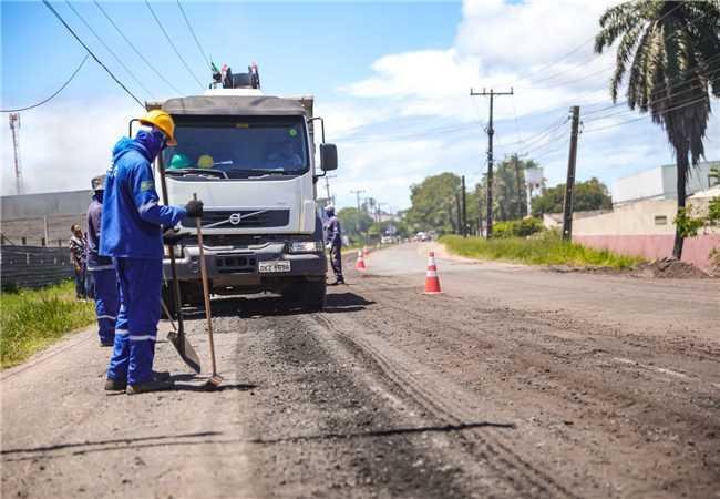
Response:
[{"label": "green grass patch below the dark fence, left of the workers", "polygon": [[92,302],[75,299],[74,283],[0,293],[0,367],[20,364],[66,333],[95,320]]}]

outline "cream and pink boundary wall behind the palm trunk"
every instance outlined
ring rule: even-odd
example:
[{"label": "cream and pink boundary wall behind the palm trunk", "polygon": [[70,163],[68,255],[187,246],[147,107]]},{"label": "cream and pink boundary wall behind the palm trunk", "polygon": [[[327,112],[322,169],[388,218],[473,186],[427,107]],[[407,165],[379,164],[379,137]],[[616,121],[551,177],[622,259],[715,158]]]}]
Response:
[{"label": "cream and pink boundary wall behind the palm trunk", "polygon": [[[692,202],[696,205],[707,200]],[[660,258],[672,254],[675,243],[675,200],[641,201],[616,207],[588,218],[574,218],[573,241],[590,247],[607,248],[626,255]],[[658,223],[665,217],[665,224]],[[685,240],[682,259],[709,268],[709,254],[720,247],[720,230],[708,230]]]}]

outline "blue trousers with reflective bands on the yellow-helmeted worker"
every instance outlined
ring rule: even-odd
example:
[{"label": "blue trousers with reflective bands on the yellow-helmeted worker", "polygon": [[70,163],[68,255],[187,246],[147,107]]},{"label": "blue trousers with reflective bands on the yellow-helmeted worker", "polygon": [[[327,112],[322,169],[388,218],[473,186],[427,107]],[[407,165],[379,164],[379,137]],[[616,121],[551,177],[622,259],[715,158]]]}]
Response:
[{"label": "blue trousers with reflective bands on the yellow-helmeted worker", "polygon": [[113,258],[113,264],[120,284],[120,312],[107,378],[138,385],[153,379],[163,261]]}]

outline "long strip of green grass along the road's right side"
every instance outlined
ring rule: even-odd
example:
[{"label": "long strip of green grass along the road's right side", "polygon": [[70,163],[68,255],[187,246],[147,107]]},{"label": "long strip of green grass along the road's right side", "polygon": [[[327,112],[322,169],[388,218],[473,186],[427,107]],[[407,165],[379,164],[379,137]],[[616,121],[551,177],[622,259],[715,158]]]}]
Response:
[{"label": "long strip of green grass along the road's right side", "polygon": [[527,265],[568,265],[574,267],[601,266],[629,268],[642,258],[618,255],[608,249],[594,249],[576,243],[565,243],[557,234],[537,237],[506,237],[484,240],[446,235],[440,242],[451,253],[471,258],[520,262]]}]

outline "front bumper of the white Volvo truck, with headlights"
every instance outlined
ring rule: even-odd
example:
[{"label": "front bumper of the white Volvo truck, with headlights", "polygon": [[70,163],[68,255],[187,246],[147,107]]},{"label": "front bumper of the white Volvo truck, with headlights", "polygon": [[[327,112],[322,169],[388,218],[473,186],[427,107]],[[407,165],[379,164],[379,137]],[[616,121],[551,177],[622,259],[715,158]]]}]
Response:
[{"label": "front bumper of the white Volvo truck, with headlights", "polygon": [[[286,261],[290,263],[289,272],[260,273],[260,262]],[[295,281],[307,277],[325,278],[327,259],[325,253],[288,253],[285,244],[267,244],[260,247],[205,247],[205,263],[208,278],[214,288],[256,287],[265,282],[278,282],[286,278]],[[175,256],[178,281],[197,282],[200,278],[200,258],[197,246],[185,246],[183,255]],[[171,261],[163,259],[165,279],[173,277]]]}]

